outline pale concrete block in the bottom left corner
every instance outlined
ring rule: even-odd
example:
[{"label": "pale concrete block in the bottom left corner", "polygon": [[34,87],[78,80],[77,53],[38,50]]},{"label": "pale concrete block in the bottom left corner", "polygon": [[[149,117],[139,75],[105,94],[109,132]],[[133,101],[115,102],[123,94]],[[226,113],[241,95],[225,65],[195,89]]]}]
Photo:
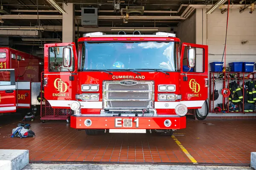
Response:
[{"label": "pale concrete block in the bottom left corner", "polygon": [[29,150],[0,149],[0,170],[21,170],[29,164]]}]

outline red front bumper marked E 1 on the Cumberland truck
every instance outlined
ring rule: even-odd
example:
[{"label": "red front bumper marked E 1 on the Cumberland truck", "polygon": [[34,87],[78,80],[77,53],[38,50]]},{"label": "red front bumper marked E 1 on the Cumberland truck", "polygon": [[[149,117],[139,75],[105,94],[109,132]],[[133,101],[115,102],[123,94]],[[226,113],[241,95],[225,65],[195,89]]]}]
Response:
[{"label": "red front bumper marked E 1 on the Cumberland truck", "polygon": [[[164,124],[167,119],[171,121],[169,127]],[[90,126],[86,124],[88,120],[91,122]],[[101,116],[100,114],[82,114],[70,117],[70,127],[75,129],[183,129],[186,128],[186,116]]]}]

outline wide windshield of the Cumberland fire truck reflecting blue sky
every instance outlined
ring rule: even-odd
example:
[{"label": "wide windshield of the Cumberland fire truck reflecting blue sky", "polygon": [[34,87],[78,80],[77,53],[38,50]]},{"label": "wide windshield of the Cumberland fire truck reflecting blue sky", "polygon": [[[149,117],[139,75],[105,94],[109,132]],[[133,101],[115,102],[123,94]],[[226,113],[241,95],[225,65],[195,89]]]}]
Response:
[{"label": "wide windshield of the Cumberland fire truck reflecting blue sky", "polygon": [[[177,71],[176,42],[82,42],[79,70]],[[155,70],[154,70],[155,69]]]}]

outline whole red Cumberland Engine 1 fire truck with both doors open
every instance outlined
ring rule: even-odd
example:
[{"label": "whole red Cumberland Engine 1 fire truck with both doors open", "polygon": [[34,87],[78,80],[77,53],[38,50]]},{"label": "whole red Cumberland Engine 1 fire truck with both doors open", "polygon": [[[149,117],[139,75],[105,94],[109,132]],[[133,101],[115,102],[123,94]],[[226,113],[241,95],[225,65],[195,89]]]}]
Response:
[{"label": "whole red Cumberland Engine 1 fire truck with both doors open", "polygon": [[[84,34],[78,54],[74,42],[44,45],[44,97],[52,108],[73,110],[71,127],[88,135],[171,135],[186,127],[188,109],[202,107],[208,96],[207,45],[182,43],[180,52],[175,34],[135,33]],[[195,48],[203,53],[195,54]],[[196,55],[202,68],[191,72]]]}]

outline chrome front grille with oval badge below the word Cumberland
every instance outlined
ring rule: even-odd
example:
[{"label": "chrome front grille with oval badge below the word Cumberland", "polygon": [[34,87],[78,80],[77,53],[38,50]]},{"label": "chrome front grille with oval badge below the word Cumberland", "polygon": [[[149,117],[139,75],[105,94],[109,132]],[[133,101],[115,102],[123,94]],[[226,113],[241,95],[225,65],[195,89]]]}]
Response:
[{"label": "chrome front grille with oval badge below the word Cumberland", "polygon": [[103,83],[103,103],[105,109],[153,108],[154,83],[152,81],[134,81],[133,85],[124,85],[122,81]]}]

